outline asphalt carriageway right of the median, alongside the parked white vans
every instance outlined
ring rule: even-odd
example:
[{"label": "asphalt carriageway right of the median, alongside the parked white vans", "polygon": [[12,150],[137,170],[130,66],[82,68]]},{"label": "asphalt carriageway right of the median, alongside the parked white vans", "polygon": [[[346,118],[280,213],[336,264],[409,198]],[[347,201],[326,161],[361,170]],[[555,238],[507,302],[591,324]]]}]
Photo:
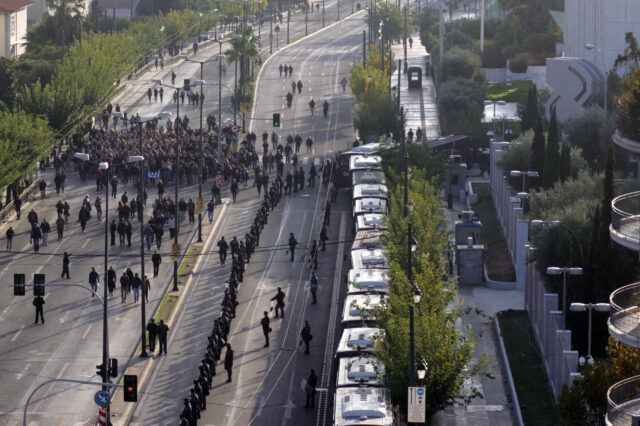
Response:
[{"label": "asphalt carriageway right of the median, alongside the parked white vans", "polygon": [[[301,163],[308,171],[311,162],[319,162],[325,156],[345,149],[353,140],[350,92],[343,92],[340,81],[348,75],[352,64],[361,57],[364,15],[310,36],[265,62],[258,81],[258,100],[255,116],[271,116],[273,112],[284,115],[281,137],[289,132],[300,133],[314,139],[314,151],[305,154],[301,149]],[[336,32],[341,34],[335,37]],[[289,90],[290,78],[281,78],[280,63],[293,64],[293,78],[303,81],[302,94],[296,94],[292,108],[286,108],[284,95]],[[316,113],[310,115],[308,102],[311,96],[318,103]],[[328,119],[321,113],[321,102],[330,103]],[[264,126],[257,125],[261,134]],[[266,128],[271,130],[271,128]],[[291,166],[286,165],[285,173]],[[348,272],[343,254],[349,243],[329,244],[319,259],[318,278],[321,283],[318,304],[311,305],[308,291],[309,264],[304,259],[305,250],[296,250],[296,261],[288,261],[283,246],[293,232],[302,247],[308,247],[318,238],[322,220],[322,207],[327,199],[327,188],[316,184],[315,188],[284,197],[269,216],[260,239],[260,247],[247,265],[244,283],[240,287],[239,306],[232,322],[231,345],[235,350],[234,381],[225,383],[226,375],[218,366],[207,410],[202,413],[201,424],[329,424],[332,419],[332,393],[330,378],[333,375],[333,344],[339,338],[336,319],[341,312],[344,286]],[[231,238],[243,235],[253,220],[257,207],[257,194],[243,191],[238,203],[231,207],[215,235]],[[350,202],[341,193],[338,203],[332,207],[329,228],[330,243],[351,238]],[[206,336],[213,319],[219,313],[223,294],[223,282],[228,277],[227,267],[218,265],[217,256],[208,256],[188,295],[191,303],[184,310],[170,336],[167,357],[158,362],[152,380],[142,391],[142,399],[134,412],[132,424],[175,424],[197,365],[206,347]],[[263,348],[259,321],[263,311],[269,311],[269,299],[276,287],[287,293],[284,320],[272,320],[271,346]],[[298,336],[303,322],[311,324],[313,341],[311,354],[304,355],[298,346]],[[320,380],[317,409],[304,406],[303,378],[314,368]],[[223,377],[224,376],[224,377]],[[329,398],[327,398],[329,396]]]}]

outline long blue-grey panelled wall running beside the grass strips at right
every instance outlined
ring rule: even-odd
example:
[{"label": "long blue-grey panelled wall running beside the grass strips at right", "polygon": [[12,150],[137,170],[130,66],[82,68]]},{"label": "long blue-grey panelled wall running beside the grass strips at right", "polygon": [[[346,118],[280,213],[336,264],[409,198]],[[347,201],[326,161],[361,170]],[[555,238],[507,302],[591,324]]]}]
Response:
[{"label": "long blue-grey panelled wall running beside the grass strips at right", "polygon": [[559,296],[546,292],[544,277],[530,261],[533,249],[529,245],[528,222],[522,216],[522,209],[514,206],[512,195],[515,191],[507,185],[502,169],[496,164],[508,145],[507,142],[491,142],[491,193],[516,265],[516,288],[525,292],[525,309],[557,400],[562,387],[570,385],[578,376],[578,352],[571,349],[571,331],[565,330],[565,320],[558,310]]}]

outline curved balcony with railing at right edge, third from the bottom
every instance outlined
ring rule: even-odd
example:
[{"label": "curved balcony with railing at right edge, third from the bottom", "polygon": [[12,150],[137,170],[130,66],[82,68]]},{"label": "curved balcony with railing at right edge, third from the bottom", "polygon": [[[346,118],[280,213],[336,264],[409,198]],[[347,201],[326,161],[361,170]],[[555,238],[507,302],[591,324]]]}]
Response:
[{"label": "curved balcony with railing at right edge, third from the bottom", "polygon": [[633,251],[640,251],[640,191],[620,195],[611,201],[611,239]]}]

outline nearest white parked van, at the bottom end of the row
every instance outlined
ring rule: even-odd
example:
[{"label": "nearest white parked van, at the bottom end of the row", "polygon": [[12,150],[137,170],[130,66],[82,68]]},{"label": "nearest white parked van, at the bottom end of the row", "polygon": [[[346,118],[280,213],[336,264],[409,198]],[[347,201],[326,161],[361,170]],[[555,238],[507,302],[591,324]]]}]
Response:
[{"label": "nearest white parked van, at the bottom end of the row", "polygon": [[393,425],[391,396],[386,388],[338,388],[334,407],[335,426]]}]

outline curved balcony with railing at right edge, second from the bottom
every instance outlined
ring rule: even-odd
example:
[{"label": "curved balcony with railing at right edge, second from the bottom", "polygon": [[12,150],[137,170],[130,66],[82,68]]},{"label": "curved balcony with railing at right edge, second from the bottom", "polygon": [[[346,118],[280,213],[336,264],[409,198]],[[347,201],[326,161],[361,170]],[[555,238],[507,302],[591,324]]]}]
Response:
[{"label": "curved balcony with railing at right edge, second from the bottom", "polygon": [[640,348],[640,282],[611,293],[609,303],[609,334],[625,345]]}]

